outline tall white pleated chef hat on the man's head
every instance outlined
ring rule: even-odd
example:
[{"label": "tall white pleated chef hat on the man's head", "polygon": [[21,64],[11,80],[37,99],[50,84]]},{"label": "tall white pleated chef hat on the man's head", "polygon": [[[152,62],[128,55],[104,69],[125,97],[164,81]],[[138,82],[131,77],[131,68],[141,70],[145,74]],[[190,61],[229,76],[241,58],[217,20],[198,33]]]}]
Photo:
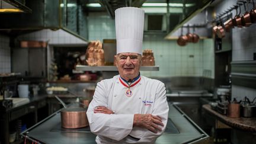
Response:
[{"label": "tall white pleated chef hat on the man's head", "polygon": [[144,10],[135,7],[116,9],[117,54],[139,53],[142,55]]}]

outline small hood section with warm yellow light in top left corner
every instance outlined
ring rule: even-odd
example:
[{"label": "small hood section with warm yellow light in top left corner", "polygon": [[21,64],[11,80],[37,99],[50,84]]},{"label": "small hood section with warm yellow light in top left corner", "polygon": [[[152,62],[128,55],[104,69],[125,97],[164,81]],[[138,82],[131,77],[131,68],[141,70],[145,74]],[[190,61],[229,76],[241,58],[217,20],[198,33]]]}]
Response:
[{"label": "small hood section with warm yellow light in top left corner", "polygon": [[[24,1],[23,1],[24,2]],[[17,0],[1,0],[0,12],[12,13],[12,12],[27,12],[31,13],[32,10],[26,7],[24,4]]]}]

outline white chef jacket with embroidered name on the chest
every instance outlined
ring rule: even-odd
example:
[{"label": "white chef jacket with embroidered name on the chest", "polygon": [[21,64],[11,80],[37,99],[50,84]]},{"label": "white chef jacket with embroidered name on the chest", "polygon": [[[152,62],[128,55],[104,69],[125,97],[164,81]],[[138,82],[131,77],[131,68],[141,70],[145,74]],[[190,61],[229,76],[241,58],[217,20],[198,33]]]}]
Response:
[{"label": "white chef jacket with embroidered name on the chest", "polygon": [[[156,79],[141,76],[131,87],[132,96],[125,94],[127,87],[119,81],[120,75],[98,82],[87,110],[91,132],[97,143],[154,143],[167,125],[168,103],[165,85]],[[114,114],[94,113],[94,108],[104,106]],[[134,114],[153,114],[164,123],[162,132],[153,133],[145,128],[133,127]],[[135,139],[134,137],[138,138]]]}]

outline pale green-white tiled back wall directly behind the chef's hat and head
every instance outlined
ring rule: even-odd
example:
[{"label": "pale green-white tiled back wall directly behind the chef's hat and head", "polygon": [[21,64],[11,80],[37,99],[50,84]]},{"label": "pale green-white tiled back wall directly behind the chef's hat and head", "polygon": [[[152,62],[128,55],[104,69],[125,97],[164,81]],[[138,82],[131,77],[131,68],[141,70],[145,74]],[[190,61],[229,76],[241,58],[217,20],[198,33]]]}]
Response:
[{"label": "pale green-white tiled back wall directly behind the chef's hat and head", "polygon": [[[114,20],[101,12],[90,13],[88,17],[89,40],[115,39]],[[180,47],[176,40],[164,40],[163,34],[144,34],[143,49],[152,49],[159,71],[142,71],[149,77],[203,76],[209,70],[208,78],[214,78],[213,40],[204,39]]]}]

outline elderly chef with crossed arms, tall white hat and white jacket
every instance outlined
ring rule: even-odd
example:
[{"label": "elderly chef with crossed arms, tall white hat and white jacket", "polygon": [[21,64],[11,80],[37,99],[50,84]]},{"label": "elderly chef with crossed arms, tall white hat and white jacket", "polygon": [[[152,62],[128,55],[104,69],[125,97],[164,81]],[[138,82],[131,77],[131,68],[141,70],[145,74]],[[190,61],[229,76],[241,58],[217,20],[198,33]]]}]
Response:
[{"label": "elderly chef with crossed arms, tall white hat and white jacket", "polygon": [[154,143],[167,125],[165,85],[140,75],[144,11],[116,9],[117,55],[120,75],[97,84],[87,110],[97,143]]}]

